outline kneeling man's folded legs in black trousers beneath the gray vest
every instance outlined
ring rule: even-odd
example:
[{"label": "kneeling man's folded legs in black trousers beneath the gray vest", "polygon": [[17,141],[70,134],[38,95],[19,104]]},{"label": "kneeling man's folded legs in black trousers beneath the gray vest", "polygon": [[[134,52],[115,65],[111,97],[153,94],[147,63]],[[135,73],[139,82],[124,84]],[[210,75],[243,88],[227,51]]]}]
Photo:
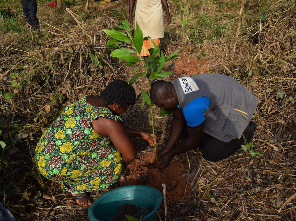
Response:
[{"label": "kneeling man's folded legs in black trousers beneath the gray vest", "polygon": [[247,142],[250,142],[254,136],[256,127],[257,124],[251,121],[247,129],[242,133],[242,137],[239,139],[233,139],[229,143],[218,140],[215,137],[208,136],[201,146],[203,157],[212,162],[228,158],[234,152],[239,150],[242,144],[244,144],[244,138]]}]

